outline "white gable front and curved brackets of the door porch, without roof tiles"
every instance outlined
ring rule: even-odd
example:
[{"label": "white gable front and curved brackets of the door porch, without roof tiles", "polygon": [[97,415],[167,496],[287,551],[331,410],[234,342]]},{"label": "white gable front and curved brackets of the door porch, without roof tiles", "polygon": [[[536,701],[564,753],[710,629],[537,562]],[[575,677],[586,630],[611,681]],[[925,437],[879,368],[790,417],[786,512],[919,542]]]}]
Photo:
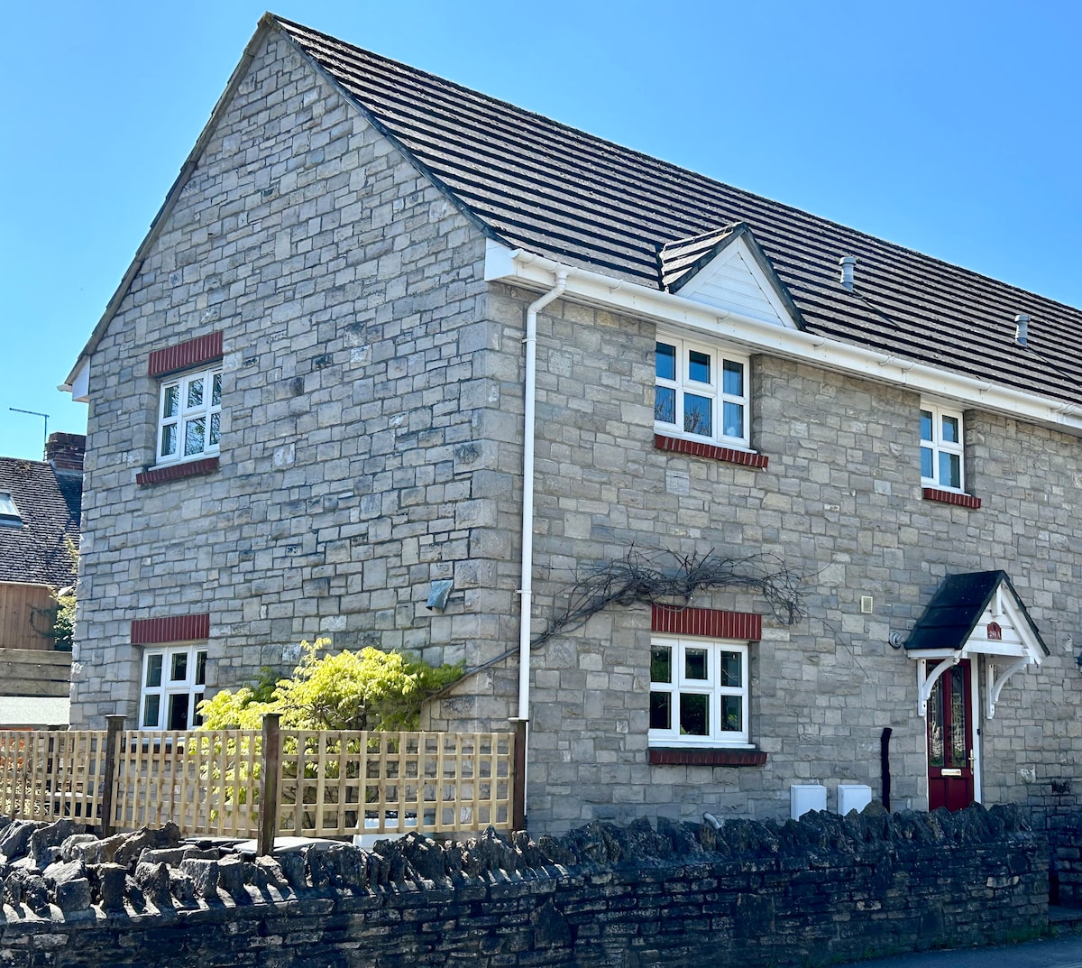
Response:
[{"label": "white gable front and curved brackets of the door porch, without roof tiles", "polygon": [[1044,649],[1033,632],[1014,591],[1001,581],[961,649],[921,649],[918,659],[918,712],[927,714],[936,680],[963,658],[985,657],[985,717],[995,716],[995,704],[1007,680],[1026,668],[1041,665]]}]

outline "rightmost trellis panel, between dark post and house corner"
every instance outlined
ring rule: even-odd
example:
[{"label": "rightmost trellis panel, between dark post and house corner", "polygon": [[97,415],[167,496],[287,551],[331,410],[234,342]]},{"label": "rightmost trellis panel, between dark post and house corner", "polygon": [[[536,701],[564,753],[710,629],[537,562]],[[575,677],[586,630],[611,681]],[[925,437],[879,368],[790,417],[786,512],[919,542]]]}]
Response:
[{"label": "rightmost trellis panel, between dark post and house corner", "polygon": [[510,829],[514,734],[282,730],[277,833]]}]

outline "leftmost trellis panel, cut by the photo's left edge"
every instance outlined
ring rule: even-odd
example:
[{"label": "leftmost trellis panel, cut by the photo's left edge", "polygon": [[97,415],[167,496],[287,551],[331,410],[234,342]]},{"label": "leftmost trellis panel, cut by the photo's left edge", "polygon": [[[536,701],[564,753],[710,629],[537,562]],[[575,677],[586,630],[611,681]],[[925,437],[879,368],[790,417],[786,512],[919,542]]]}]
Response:
[{"label": "leftmost trellis panel, cut by the photo's left edge", "polygon": [[96,823],[104,779],[104,730],[0,731],[0,813]]}]

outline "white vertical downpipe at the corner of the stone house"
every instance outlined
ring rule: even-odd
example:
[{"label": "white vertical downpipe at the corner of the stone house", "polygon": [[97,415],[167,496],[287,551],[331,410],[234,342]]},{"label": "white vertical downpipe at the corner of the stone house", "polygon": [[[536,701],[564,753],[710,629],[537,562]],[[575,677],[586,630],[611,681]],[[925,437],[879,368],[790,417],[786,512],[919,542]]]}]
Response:
[{"label": "white vertical downpipe at the corner of the stone house", "polygon": [[[538,313],[567,288],[568,270],[555,271],[556,285],[526,310],[526,401],[523,415],[523,586],[518,589],[518,716],[530,718],[530,615],[533,599],[533,439],[537,410]],[[523,764],[525,769],[525,763]]]}]

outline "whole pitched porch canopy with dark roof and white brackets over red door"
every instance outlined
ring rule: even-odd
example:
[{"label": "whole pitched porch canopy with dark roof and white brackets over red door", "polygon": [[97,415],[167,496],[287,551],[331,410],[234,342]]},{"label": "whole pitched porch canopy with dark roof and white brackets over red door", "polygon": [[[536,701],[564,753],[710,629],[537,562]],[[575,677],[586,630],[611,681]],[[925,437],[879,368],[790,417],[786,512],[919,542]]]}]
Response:
[{"label": "whole pitched porch canopy with dark roof and white brackets over red door", "polygon": [[1006,572],[948,575],[906,640],[906,652],[918,659],[918,711],[927,712],[936,681],[963,658],[985,656],[985,716],[1006,681],[1048,655],[1026,605]]}]

